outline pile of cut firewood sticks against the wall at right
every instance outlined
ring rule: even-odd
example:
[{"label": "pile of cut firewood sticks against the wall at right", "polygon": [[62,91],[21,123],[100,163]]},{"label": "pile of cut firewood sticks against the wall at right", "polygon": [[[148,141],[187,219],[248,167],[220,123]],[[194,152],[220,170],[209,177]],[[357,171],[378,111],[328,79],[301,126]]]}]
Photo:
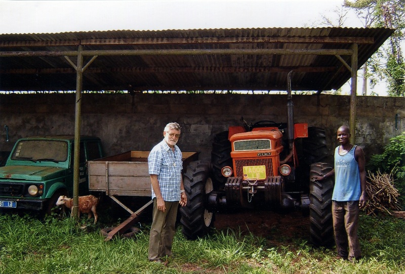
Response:
[{"label": "pile of cut firewood sticks against the wall at right", "polygon": [[367,215],[376,215],[378,212],[388,213],[391,210],[400,210],[398,190],[394,187],[392,174],[373,174],[369,171],[366,182],[367,203],[363,210]]}]

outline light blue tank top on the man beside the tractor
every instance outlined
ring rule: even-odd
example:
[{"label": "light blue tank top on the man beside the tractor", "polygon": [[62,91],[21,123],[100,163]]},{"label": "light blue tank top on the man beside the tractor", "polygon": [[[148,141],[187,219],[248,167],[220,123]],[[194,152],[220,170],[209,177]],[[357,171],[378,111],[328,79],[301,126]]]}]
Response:
[{"label": "light blue tank top on the man beside the tractor", "polygon": [[335,148],[335,187],[332,200],[338,202],[360,200],[360,172],[354,158],[356,145],[344,155],[339,155],[339,147]]}]

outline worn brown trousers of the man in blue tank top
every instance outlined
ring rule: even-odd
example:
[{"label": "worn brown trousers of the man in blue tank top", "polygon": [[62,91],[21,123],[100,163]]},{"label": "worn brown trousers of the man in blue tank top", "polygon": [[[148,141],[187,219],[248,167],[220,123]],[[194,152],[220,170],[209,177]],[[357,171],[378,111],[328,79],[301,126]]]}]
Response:
[{"label": "worn brown trousers of the man in blue tank top", "polygon": [[[333,230],[338,255],[352,261],[361,258],[360,243],[357,236],[358,201],[332,201]],[[347,253],[349,249],[349,253]]]}]

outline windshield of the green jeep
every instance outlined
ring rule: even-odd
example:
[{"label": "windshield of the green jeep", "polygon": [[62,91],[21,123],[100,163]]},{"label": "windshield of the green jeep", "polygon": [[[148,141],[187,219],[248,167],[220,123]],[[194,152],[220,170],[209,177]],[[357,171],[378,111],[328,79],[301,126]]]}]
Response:
[{"label": "windshield of the green jeep", "polygon": [[64,162],[67,160],[67,142],[56,140],[21,140],[11,159],[19,161]]}]

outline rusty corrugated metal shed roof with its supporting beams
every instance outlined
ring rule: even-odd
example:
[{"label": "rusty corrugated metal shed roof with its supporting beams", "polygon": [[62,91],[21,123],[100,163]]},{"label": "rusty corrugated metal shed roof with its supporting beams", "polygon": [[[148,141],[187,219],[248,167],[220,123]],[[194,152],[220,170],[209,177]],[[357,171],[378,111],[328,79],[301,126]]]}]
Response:
[{"label": "rusty corrugated metal shed roof with its supporting beams", "polygon": [[[338,89],[387,40],[386,28],[254,28],[0,34],[0,90],[75,90],[76,73],[58,52],[98,55],[83,90]],[[97,51],[97,52],[96,52]],[[115,52],[114,51],[121,51]],[[92,58],[85,56],[85,65]],[[74,54],[68,57],[76,63]]]}]

